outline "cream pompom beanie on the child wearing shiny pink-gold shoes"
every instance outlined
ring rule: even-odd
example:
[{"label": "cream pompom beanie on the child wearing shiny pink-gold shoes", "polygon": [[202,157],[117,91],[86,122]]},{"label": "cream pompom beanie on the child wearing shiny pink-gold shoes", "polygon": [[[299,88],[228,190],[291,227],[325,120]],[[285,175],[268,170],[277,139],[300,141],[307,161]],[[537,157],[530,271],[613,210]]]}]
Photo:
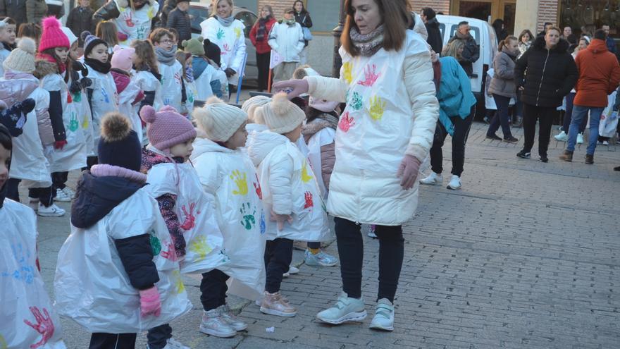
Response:
[{"label": "cream pompom beanie on the child wearing shiny pink-gold shoes", "polygon": [[260,109],[269,130],[281,135],[297,128],[306,118],[304,111],[290,102],[283,92],[275,94],[273,100]]}]

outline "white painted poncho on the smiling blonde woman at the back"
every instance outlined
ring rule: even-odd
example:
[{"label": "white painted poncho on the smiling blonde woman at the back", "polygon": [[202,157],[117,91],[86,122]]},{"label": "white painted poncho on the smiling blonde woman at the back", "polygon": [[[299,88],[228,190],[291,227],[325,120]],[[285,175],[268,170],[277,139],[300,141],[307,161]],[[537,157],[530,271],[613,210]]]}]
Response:
[{"label": "white painted poncho on the smiling blonde woman at the back", "polygon": [[218,45],[221,50],[221,68],[232,68],[237,74],[228,78],[228,83],[237,86],[239,83],[239,73],[243,68],[243,58],[246,54],[245,49],[245,25],[240,20],[233,20],[228,27],[221,25],[215,17],[207,18],[200,23],[202,28],[201,36],[211,40]]}]

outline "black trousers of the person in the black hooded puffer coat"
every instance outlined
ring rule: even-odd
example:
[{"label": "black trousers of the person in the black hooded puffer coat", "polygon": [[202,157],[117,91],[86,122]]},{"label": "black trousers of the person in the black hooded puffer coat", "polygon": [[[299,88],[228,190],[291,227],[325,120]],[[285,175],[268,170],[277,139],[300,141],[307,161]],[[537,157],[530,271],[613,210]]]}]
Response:
[{"label": "black trousers of the person in the black hooded puffer coat", "polygon": [[523,103],[523,150],[531,152],[534,146],[534,136],[536,135],[536,121],[538,120],[538,154],[547,156],[549,139],[553,118],[557,113],[554,106],[533,106]]}]

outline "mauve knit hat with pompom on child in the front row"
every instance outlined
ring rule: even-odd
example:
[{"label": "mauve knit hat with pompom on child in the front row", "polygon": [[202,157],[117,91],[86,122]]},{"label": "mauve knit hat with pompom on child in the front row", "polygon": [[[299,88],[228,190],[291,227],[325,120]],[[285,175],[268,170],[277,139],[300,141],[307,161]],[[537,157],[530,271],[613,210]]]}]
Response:
[{"label": "mauve knit hat with pompom on child in the front row", "polygon": [[143,106],[140,118],[148,123],[147,136],[153,147],[161,151],[185,143],[196,137],[192,122],[172,106],[164,106],[158,112],[152,106]]}]

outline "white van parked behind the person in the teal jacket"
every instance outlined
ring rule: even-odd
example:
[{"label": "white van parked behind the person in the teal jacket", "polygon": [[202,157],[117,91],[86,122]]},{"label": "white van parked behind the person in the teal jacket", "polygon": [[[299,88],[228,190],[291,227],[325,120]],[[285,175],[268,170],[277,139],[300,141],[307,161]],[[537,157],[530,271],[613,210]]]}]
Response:
[{"label": "white van parked behind the person in the teal jacket", "polygon": [[437,15],[439,21],[439,29],[443,38],[444,47],[448,40],[454,36],[454,32],[459,27],[459,22],[469,22],[471,27],[471,36],[476,39],[476,43],[480,46],[480,58],[473,63],[473,75],[471,76],[471,92],[476,95],[478,101],[484,100],[484,83],[486,73],[493,66],[493,59],[497,54],[497,38],[495,30],[488,22],[477,18],[467,18],[460,16]]}]

